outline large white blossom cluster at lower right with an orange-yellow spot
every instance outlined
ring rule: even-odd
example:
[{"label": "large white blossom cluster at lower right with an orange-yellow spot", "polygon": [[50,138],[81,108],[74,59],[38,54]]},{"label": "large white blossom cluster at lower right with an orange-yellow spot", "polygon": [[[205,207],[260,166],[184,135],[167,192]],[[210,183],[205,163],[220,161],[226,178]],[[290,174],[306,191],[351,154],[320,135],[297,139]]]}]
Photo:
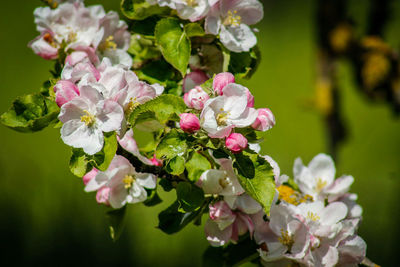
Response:
[{"label": "large white blossom cluster at lower right with an orange-yellow spot", "polygon": [[[362,209],[348,193],[354,179],[335,180],[332,159],[317,155],[308,166],[295,161],[294,182],[277,176],[277,198],[270,215],[254,220],[254,239],[261,245],[262,262],[294,261],[304,266],[350,266],[365,257],[366,244],[356,233]],[[266,219],[266,220],[265,220]]]}]

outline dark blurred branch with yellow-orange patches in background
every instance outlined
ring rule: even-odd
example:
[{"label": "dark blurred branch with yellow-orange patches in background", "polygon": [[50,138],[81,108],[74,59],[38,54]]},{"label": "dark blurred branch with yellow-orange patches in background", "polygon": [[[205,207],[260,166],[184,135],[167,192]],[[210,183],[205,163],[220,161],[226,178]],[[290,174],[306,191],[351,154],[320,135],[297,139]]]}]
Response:
[{"label": "dark blurred branch with yellow-orange patches in background", "polygon": [[374,102],[386,102],[396,114],[400,111],[399,58],[384,41],[390,4],[391,0],[371,0],[366,33],[357,37],[357,25],[347,15],[346,1],[318,1],[315,106],[324,117],[329,152],[334,158],[347,133],[336,77],[340,60],[350,61],[357,87],[364,95]]}]

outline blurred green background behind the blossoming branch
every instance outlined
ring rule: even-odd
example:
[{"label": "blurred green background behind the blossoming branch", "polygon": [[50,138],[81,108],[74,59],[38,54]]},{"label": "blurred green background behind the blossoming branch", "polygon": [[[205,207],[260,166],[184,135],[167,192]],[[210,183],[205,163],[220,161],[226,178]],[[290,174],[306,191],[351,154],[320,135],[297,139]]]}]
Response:
[{"label": "blurred green background behind the blossoming branch", "polygon": [[[119,1],[102,3],[117,10]],[[292,175],[293,161],[309,162],[327,152],[322,119],[307,108],[313,95],[315,2],[263,1],[265,17],[258,25],[263,60],[245,82],[257,107],[269,107],[276,126],[266,134],[262,151],[283,173]],[[400,46],[400,3],[387,36]],[[368,1],[351,0],[350,11],[362,27]],[[37,32],[33,10],[39,0],[2,1],[0,16],[1,112],[22,94],[37,91],[49,77],[52,63],[27,47]],[[339,73],[349,138],[340,148],[337,174],[352,174],[352,191],[359,195],[364,220],[359,234],[368,257],[382,266],[396,266],[400,237],[400,121],[384,105],[370,103],[354,88],[344,62]],[[208,246],[203,228],[193,225],[167,236],[156,229],[157,214],[173,198],[154,208],[134,205],[122,238],[112,242],[104,207],[68,169],[70,149],[59,130],[21,134],[0,126],[0,265],[1,266],[199,266]],[[395,261],[396,260],[396,261]]]}]

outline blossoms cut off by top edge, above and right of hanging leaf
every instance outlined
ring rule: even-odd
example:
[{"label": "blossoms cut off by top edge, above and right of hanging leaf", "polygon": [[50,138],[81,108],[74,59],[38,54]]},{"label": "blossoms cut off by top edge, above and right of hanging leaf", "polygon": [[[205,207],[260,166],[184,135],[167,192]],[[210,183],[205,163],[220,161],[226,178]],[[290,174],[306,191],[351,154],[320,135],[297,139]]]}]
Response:
[{"label": "blossoms cut off by top edge, above and right of hanging leaf", "polygon": [[257,38],[249,25],[263,16],[258,0],[147,0],[150,4],[175,9],[178,16],[192,22],[205,20],[205,31],[218,35],[226,48],[233,52],[249,51]]}]

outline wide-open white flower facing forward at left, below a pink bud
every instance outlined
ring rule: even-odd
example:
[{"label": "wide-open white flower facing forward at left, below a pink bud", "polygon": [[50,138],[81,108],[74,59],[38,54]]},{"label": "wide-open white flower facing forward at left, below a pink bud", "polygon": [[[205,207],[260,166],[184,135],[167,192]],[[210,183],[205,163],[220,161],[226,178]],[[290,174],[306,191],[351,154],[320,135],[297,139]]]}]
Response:
[{"label": "wide-open white flower facing forward at left, below a pink bud", "polygon": [[103,132],[121,128],[124,111],[118,103],[104,100],[95,88],[83,86],[80,96],[61,107],[58,118],[64,123],[61,128],[64,143],[93,155],[103,147]]}]

